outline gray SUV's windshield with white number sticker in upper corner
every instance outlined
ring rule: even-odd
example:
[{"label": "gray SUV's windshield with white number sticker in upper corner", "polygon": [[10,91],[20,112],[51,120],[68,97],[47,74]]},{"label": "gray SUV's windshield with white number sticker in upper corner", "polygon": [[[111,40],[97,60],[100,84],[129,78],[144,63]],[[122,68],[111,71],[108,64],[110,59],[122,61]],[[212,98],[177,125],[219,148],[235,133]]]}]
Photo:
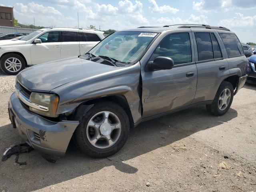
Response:
[{"label": "gray SUV's windshield with white number sticker in upper corner", "polygon": [[92,48],[90,53],[96,57],[110,57],[118,62],[135,62],[156,35],[153,32],[115,32]]}]

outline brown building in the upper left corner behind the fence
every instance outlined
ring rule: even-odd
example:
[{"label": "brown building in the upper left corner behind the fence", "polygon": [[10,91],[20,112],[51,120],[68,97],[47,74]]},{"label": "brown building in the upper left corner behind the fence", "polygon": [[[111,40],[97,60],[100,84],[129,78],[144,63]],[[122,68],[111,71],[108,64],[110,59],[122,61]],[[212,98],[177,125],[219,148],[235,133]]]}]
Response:
[{"label": "brown building in the upper left corner behind the fence", "polygon": [[0,6],[0,26],[14,27],[13,7]]}]

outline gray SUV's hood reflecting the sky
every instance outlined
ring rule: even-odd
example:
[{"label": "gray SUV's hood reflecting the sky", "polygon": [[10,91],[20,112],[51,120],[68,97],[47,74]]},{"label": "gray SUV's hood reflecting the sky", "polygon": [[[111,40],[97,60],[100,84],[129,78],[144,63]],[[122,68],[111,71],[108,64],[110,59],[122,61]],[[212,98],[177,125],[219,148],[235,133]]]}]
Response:
[{"label": "gray SUV's hood reflecting the sky", "polygon": [[118,68],[72,57],[26,68],[17,75],[17,80],[31,91],[50,92],[63,84]]}]

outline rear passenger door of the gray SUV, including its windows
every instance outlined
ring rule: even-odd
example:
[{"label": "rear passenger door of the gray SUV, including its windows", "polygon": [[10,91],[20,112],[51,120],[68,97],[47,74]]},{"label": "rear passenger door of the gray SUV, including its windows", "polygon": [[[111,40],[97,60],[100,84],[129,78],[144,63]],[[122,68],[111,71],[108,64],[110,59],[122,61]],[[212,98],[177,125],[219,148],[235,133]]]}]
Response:
[{"label": "rear passenger door of the gray SUV, including its windows", "polygon": [[194,103],[213,100],[220,85],[221,76],[229,74],[228,62],[223,58],[220,41],[213,30],[192,29],[198,69]]}]

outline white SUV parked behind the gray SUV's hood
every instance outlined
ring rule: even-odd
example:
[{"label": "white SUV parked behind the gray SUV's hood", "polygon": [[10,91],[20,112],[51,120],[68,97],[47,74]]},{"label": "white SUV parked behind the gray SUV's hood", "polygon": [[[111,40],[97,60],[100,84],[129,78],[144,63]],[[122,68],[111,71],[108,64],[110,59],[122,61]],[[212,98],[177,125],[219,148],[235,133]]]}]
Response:
[{"label": "white SUV parked behind the gray SUV's hood", "polygon": [[26,66],[85,54],[104,39],[103,33],[82,28],[44,28],[19,40],[0,41],[1,69],[15,75]]}]

